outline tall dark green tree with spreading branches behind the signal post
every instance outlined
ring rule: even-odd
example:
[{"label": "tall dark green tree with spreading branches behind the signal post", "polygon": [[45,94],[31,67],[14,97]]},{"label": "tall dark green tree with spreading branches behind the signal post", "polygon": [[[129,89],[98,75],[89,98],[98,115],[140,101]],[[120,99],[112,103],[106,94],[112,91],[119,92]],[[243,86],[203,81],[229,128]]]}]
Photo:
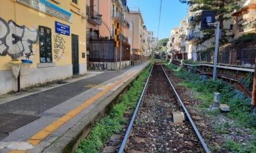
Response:
[{"label": "tall dark green tree with spreading branches behind the signal post", "polygon": [[[180,0],[182,3],[188,3],[190,6],[194,6],[190,11],[191,12],[200,12],[202,10],[214,10],[216,12],[216,21],[220,23],[220,29],[222,30],[222,39],[220,39],[220,45],[224,45],[225,43],[229,42],[230,38],[233,38],[233,35],[227,35],[227,32],[232,31],[231,28],[225,28],[223,23],[224,21],[232,19],[230,14],[234,11],[234,9],[239,9],[237,2],[240,0],[189,0],[183,1]],[[201,14],[198,14],[195,19],[194,23],[198,24],[201,21]],[[204,37],[200,39],[198,44],[201,44],[211,38],[215,37],[215,30],[203,30]]]}]

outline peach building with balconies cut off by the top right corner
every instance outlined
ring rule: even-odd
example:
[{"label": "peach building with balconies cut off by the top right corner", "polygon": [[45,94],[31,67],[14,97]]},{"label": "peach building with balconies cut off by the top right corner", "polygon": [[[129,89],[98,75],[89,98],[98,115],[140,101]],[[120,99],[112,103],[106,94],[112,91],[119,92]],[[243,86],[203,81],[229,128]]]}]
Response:
[{"label": "peach building with balconies cut off by the top right corner", "polygon": [[240,1],[241,9],[232,14],[234,38],[256,32],[256,0]]}]

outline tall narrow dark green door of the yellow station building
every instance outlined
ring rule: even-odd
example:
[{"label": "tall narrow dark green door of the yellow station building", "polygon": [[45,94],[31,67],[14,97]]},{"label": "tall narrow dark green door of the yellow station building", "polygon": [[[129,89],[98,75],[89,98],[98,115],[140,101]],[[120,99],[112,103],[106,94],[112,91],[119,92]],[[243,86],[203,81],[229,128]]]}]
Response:
[{"label": "tall narrow dark green door of the yellow station building", "polygon": [[78,36],[72,34],[72,64],[73,75],[79,74],[79,49]]}]

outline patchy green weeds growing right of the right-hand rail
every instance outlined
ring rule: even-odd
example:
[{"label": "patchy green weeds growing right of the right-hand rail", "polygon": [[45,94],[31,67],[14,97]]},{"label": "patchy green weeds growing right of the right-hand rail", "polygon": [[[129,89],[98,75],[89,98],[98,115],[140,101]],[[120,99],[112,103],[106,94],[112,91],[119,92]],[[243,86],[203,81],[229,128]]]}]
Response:
[{"label": "patchy green weeds growing right of the right-hand rail", "polygon": [[[249,128],[251,134],[254,134],[254,140],[247,141],[246,143],[237,143],[231,139],[227,139],[223,148],[231,152],[256,152],[256,112],[250,114],[251,98],[247,97],[239,90],[234,90],[228,83],[217,80],[213,81],[204,76],[199,76],[183,69],[178,69],[175,65],[166,64],[168,68],[175,71],[175,74],[184,80],[179,85],[186,86],[195,92],[195,98],[202,103],[197,105],[196,108],[203,110],[208,115],[219,115],[220,111],[207,111],[209,105],[213,105],[214,92],[221,93],[220,102],[227,104],[230,107],[230,112],[225,114],[228,118],[234,120],[234,126],[241,128]],[[230,125],[229,125],[230,126]],[[215,132],[221,134],[229,134],[230,127],[227,125],[215,125]],[[237,133],[239,134],[239,133]]]}]

